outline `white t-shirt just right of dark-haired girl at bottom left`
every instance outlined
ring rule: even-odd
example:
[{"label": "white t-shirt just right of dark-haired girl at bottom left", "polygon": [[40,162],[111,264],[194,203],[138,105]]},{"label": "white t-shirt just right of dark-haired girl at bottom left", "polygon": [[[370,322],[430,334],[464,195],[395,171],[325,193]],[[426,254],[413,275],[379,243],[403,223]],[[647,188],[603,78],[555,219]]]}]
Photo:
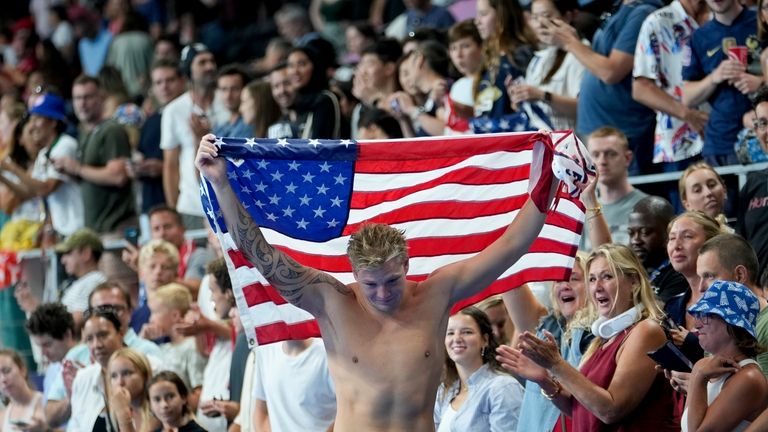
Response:
[{"label": "white t-shirt just right of dark-haired girl at bottom left", "polygon": [[[203,373],[203,388],[200,391],[200,402],[216,399],[229,400],[229,367],[232,364],[232,342],[217,339],[208,356],[208,364]],[[197,423],[208,432],[226,432],[227,419],[222,414],[219,417],[208,417],[197,409]]]}]

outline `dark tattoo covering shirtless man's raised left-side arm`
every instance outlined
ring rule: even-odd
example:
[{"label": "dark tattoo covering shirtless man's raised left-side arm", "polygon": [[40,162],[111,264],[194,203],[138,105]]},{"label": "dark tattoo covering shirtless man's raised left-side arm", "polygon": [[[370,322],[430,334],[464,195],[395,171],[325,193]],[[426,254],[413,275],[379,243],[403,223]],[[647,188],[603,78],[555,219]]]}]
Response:
[{"label": "dark tattoo covering shirtless man's raised left-side arm", "polygon": [[329,285],[341,294],[349,294],[344,284],[328,274],[303,266],[267,242],[251,215],[238,202],[237,220],[231,231],[245,257],[289,302],[301,303],[306,288],[324,289]]}]

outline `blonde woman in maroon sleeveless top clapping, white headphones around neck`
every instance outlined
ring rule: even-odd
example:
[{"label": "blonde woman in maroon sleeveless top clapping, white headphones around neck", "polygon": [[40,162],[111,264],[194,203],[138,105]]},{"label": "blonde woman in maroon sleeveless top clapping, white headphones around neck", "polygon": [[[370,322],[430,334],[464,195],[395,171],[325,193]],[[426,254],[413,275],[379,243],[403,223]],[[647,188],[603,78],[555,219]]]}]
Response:
[{"label": "blonde woman in maroon sleeveless top clapping, white headphones around neck", "polygon": [[598,247],[586,267],[598,319],[581,367],[562,358],[551,334],[520,336],[522,354],[550,375],[542,392],[572,417],[573,430],[679,430],[672,388],[646,355],[666,337],[645,268],[628,247],[614,244]]}]

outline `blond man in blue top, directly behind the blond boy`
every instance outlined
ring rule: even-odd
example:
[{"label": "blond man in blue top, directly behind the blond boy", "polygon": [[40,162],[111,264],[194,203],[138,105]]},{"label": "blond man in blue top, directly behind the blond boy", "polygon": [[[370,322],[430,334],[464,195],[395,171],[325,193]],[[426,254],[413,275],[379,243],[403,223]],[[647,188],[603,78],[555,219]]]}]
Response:
[{"label": "blond man in blue top, directly behind the blond boy", "polygon": [[163,285],[176,279],[179,267],[179,250],[165,240],[150,240],[139,251],[139,302],[131,315],[130,326],[147,339],[156,339],[151,327],[144,330],[149,322],[148,299]]}]

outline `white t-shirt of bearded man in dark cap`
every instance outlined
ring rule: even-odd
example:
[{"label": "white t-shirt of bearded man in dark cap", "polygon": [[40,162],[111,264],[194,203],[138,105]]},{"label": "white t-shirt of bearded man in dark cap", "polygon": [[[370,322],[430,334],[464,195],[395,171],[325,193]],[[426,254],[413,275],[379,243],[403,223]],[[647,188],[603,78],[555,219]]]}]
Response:
[{"label": "white t-shirt of bearded man in dark cap", "polygon": [[[199,142],[189,126],[193,106],[192,94],[186,92],[163,109],[160,120],[160,148],[172,150],[180,147],[179,199],[176,202],[176,210],[188,215],[204,216],[198,178],[195,175],[195,152]],[[226,122],[229,117],[227,109],[218,99],[214,100],[205,114],[211,122],[211,129]]]}]

